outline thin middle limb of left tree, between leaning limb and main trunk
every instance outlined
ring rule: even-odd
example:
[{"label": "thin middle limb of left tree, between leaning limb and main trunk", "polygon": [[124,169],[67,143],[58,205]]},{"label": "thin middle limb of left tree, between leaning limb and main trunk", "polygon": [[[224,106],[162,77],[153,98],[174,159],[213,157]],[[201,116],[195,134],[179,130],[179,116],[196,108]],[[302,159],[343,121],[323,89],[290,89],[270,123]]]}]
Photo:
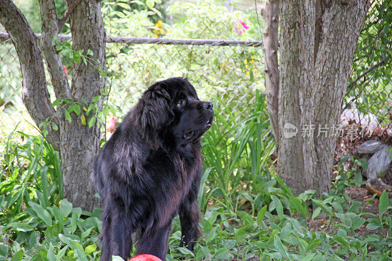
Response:
[{"label": "thin middle limb of left tree, between leaning limb and main trunk", "polygon": [[57,38],[57,13],[54,0],[39,0],[42,20],[40,46],[48,66],[53,90],[58,99],[71,98],[70,86],[60,55],[55,51],[53,41]]}]

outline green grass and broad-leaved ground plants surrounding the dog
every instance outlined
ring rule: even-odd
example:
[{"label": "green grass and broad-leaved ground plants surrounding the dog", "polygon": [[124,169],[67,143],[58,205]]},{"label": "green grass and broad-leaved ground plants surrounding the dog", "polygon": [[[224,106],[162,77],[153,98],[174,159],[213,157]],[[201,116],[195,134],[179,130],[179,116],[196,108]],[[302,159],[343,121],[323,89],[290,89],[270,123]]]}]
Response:
[{"label": "green grass and broad-leaved ground plants surrounding the dog", "polygon": [[[168,261],[392,260],[386,194],[377,214],[363,212],[363,203],[344,192],[363,185],[350,170],[351,178],[341,178],[329,193],[294,196],[274,174],[265,96],[256,93],[254,102],[235,112],[218,98],[214,103],[222,113],[203,139],[203,237],[193,252],[179,248],[180,222],[174,218]],[[21,135],[23,144],[15,142]],[[40,137],[18,131],[4,145],[0,260],[98,260],[100,210],[84,212],[63,198],[58,153]]]}]

